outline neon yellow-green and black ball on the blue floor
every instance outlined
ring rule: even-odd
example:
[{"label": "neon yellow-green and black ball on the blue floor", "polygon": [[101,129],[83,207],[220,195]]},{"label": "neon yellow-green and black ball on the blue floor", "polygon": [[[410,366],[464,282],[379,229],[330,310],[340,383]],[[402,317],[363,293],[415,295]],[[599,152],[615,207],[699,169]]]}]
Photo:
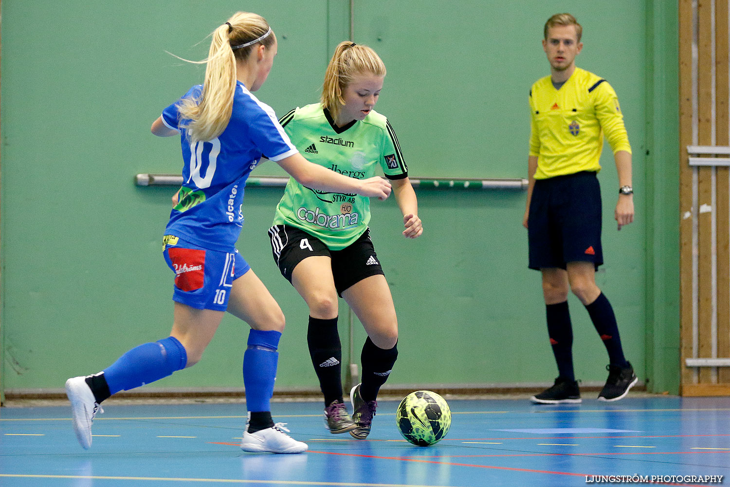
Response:
[{"label": "neon yellow-green and black ball on the blue floor", "polygon": [[434,445],[449,432],[451,410],[435,392],[415,391],[399,404],[396,423],[401,435],[414,445]]}]

